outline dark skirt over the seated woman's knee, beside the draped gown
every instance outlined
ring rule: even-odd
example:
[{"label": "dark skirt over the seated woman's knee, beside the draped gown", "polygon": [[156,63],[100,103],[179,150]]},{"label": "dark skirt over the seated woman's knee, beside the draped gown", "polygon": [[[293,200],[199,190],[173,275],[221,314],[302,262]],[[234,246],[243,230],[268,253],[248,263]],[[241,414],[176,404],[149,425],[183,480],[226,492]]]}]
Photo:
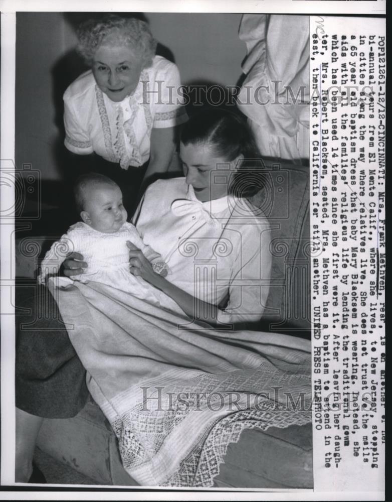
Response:
[{"label": "dark skirt over the seated woman's knee, beside the draped gown", "polygon": [[86,370],[54,298],[43,286],[17,287],[15,305],[16,406],[39,417],[74,417],[89,396]]}]

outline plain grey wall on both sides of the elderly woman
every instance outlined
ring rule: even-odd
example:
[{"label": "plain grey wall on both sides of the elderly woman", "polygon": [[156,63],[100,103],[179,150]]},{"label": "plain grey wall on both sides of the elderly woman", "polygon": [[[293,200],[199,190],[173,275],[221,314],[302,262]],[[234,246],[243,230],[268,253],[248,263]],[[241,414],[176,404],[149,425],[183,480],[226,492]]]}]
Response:
[{"label": "plain grey wall on both sides of the elderly woman", "polygon": [[[84,71],[75,55],[78,13],[18,13],[16,46],[16,165],[60,180],[62,95]],[[86,16],[84,14],[84,16]],[[183,84],[235,85],[246,46],[238,38],[241,14],[144,13],[151,32],[173,55]]]}]

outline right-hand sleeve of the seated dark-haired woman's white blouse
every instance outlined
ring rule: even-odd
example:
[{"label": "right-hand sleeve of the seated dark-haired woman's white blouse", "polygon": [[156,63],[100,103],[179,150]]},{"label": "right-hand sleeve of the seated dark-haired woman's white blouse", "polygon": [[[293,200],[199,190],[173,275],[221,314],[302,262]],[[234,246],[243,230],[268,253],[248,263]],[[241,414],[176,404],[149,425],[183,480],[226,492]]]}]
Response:
[{"label": "right-hand sleeve of the seated dark-haired woman's white blouse", "polygon": [[218,321],[246,327],[258,322],[264,312],[271,275],[271,231],[267,220],[242,228],[239,252],[232,267],[229,302],[218,313]]}]

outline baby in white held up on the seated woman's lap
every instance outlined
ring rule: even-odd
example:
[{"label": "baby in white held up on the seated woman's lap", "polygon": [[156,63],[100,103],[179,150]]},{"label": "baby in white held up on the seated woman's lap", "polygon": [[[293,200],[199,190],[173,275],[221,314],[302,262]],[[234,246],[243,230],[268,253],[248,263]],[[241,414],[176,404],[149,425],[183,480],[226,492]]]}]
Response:
[{"label": "baby in white held up on the seated woman's lap", "polygon": [[57,274],[68,254],[77,252],[83,255],[88,267],[83,274],[72,276],[73,280],[103,283],[156,302],[151,286],[129,272],[126,242],[138,247],[158,274],[166,276],[167,265],[144,244],[134,225],[126,221],[119,186],[106,176],[89,173],[78,178],[74,195],[83,221],[72,225],[52,245],[41,264],[39,282],[44,284],[48,276]]}]

